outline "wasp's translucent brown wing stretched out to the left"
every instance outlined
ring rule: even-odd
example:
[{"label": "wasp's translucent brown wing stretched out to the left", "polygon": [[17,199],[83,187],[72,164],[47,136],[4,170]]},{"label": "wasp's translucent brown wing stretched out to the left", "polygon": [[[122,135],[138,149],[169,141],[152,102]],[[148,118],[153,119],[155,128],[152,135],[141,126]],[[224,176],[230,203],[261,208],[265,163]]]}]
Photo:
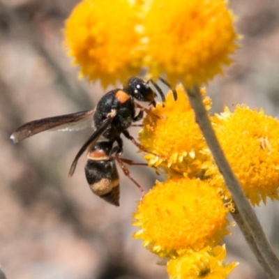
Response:
[{"label": "wasp's translucent brown wing stretched out to the left", "polygon": [[17,128],[10,136],[10,139],[16,144],[27,137],[31,137],[45,130],[80,130],[93,126],[94,112],[95,110],[86,110],[84,112],[34,120]]}]

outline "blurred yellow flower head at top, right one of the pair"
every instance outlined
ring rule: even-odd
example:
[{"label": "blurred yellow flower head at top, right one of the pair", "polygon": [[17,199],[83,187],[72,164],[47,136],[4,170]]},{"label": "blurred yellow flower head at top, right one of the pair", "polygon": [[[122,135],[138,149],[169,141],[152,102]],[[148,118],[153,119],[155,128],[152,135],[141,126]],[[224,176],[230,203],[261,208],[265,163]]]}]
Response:
[{"label": "blurred yellow flower head at top, right one of the pair", "polygon": [[151,75],[188,87],[223,73],[238,47],[233,20],[224,0],[151,1],[144,24]]}]

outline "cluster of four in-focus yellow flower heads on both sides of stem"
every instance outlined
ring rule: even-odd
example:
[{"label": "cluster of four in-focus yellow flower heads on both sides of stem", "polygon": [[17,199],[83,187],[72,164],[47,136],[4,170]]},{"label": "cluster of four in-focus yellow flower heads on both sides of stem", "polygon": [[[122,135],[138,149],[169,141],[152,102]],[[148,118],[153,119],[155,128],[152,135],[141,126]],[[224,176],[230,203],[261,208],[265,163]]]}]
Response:
[{"label": "cluster of four in-focus yellow flower heads on both sides of stem", "polygon": [[[228,232],[227,212],[234,206],[183,87],[176,86],[176,91],[176,102],[169,93],[165,106],[158,104],[152,110],[164,117],[147,115],[140,131],[144,148],[157,154],[144,158],[164,169],[168,178],[157,182],[137,206],[134,225],[140,230],[134,237],[160,257],[171,258],[167,265],[171,278],[202,277],[198,273],[226,278],[236,264],[226,265],[223,257],[209,251],[222,243]],[[209,109],[211,100],[201,93]],[[279,121],[242,105],[211,116],[211,123],[250,202],[279,199]]]}]

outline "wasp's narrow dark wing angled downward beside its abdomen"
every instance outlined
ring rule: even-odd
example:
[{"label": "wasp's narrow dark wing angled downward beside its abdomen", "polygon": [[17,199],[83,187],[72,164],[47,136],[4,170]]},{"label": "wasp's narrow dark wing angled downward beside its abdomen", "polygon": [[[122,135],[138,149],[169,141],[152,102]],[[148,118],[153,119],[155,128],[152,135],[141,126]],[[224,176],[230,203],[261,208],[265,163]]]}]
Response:
[{"label": "wasp's narrow dark wing angled downward beside its abdomen", "polygon": [[96,144],[98,139],[103,135],[105,132],[105,129],[110,126],[110,123],[112,123],[112,120],[114,119],[115,115],[109,116],[103,123],[98,127],[98,129],[89,137],[89,139],[84,143],[80,151],[77,152],[77,155],[75,156],[75,159],[73,160],[72,165],[70,166],[70,171],[68,173],[68,176],[73,176],[75,172],[75,167],[77,166],[77,161],[80,159],[80,156],[86,151],[86,149],[89,146],[93,146]]}]

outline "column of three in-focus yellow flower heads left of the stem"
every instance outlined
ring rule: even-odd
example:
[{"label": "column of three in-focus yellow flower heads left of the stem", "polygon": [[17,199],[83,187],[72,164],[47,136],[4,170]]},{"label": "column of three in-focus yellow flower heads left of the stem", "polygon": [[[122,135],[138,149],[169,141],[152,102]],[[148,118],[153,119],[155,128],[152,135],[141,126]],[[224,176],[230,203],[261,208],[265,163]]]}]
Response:
[{"label": "column of three in-focus yellow flower heads left of the stem", "polygon": [[[183,86],[176,86],[163,105],[144,119],[140,142],[153,154],[144,155],[149,165],[164,169],[165,182],[157,182],[137,206],[134,234],[160,257],[168,257],[170,278],[227,278],[236,264],[225,264],[223,236],[229,234],[221,187],[206,176],[212,158]],[[211,100],[201,90],[209,110]],[[160,116],[160,118],[154,116]],[[162,117],[165,116],[165,117]],[[215,251],[215,252],[213,252]],[[216,252],[218,251],[218,252]]]}]

